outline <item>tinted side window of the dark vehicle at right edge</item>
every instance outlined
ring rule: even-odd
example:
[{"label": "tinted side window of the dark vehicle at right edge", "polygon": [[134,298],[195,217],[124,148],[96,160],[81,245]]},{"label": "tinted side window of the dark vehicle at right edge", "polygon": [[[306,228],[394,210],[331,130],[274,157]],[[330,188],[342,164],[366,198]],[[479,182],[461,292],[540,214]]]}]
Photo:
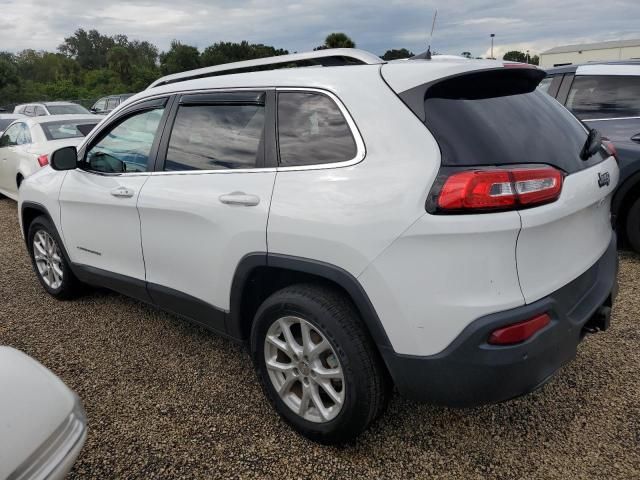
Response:
[{"label": "tinted side window of the dark vehicle at right edge", "polygon": [[581,120],[640,116],[640,76],[578,75],[567,108]]}]

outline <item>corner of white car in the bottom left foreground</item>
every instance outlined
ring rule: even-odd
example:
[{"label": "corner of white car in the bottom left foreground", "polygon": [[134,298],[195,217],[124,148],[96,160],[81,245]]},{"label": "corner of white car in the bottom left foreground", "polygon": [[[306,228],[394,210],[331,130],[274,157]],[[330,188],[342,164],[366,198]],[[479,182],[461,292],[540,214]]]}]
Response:
[{"label": "corner of white car in the bottom left foreground", "polygon": [[78,396],[10,347],[0,347],[0,392],[0,479],[64,478],[87,438]]}]

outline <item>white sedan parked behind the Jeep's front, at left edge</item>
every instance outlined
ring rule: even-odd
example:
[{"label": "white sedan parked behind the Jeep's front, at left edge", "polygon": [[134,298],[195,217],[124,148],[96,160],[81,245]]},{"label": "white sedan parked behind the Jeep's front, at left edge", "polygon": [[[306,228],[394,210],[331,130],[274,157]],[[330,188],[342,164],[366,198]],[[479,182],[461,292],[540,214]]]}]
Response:
[{"label": "white sedan parked behind the Jeep's front, at left edge", "polygon": [[48,115],[14,121],[0,136],[0,194],[17,200],[22,181],[48,165],[51,152],[78,145],[102,118]]}]

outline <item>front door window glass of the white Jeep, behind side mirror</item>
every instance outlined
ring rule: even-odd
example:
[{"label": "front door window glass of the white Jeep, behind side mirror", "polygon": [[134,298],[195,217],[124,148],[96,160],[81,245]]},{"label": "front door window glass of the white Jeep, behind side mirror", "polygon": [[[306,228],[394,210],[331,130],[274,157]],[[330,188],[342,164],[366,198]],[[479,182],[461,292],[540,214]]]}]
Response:
[{"label": "front door window glass of the white Jeep, behind side mirror", "polygon": [[164,108],[145,110],[112,127],[85,157],[85,168],[102,173],[146,172]]}]

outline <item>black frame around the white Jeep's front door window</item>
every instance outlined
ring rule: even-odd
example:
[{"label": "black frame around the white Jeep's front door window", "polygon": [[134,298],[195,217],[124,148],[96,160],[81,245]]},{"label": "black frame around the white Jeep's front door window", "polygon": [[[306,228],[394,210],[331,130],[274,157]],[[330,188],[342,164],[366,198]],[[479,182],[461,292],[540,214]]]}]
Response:
[{"label": "black frame around the white Jeep's front door window", "polygon": [[175,100],[175,95],[172,94],[164,94],[151,98],[141,99],[139,102],[130,105],[125,110],[122,110],[113,118],[110,119],[109,123],[106,123],[100,127],[99,130],[92,130],[87,140],[83,142],[82,147],[78,150],[78,159],[80,162],[84,163],[86,153],[95,146],[97,142],[102,140],[104,137],[103,133],[107,131],[111,131],[115,126],[124,122],[128,118],[144,112],[145,110],[155,110],[160,107],[164,107],[164,112],[162,114],[162,118],[160,119],[160,124],[158,125],[158,130],[156,131],[156,136],[153,139],[153,143],[151,144],[151,150],[149,151],[149,160],[147,162],[147,171],[146,172],[98,172],[96,170],[90,170],[87,168],[81,168],[80,170],[86,173],[90,173],[93,175],[101,175],[108,177],[121,177],[121,176],[141,176],[141,175],[150,175],[153,173],[154,165],[157,161],[158,156],[158,146],[160,144],[160,140],[162,138],[162,133],[167,124],[167,119],[169,118],[169,112],[171,107],[173,106]]}]

